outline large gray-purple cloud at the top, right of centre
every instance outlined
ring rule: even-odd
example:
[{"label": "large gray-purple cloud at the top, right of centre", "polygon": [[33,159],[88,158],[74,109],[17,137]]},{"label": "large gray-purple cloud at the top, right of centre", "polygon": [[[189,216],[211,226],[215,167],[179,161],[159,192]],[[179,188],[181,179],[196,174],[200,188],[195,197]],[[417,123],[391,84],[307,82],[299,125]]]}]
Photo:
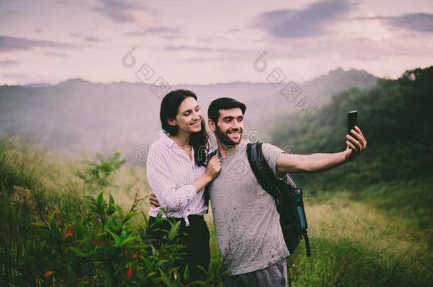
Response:
[{"label": "large gray-purple cloud at the top, right of centre", "polygon": [[255,19],[253,27],[263,28],[278,38],[323,35],[354,6],[352,1],[329,0],[310,4],[305,9],[268,11]]}]

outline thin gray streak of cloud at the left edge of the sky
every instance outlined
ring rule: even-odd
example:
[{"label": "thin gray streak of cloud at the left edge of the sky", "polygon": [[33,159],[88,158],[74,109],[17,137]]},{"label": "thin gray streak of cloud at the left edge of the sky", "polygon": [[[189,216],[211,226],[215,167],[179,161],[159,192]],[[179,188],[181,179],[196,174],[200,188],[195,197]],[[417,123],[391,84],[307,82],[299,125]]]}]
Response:
[{"label": "thin gray streak of cloud at the left edge of the sky", "polygon": [[57,47],[67,48],[75,45],[58,43],[46,40],[31,40],[27,38],[15,38],[0,35],[0,52],[9,52],[16,50],[31,50],[33,47]]}]

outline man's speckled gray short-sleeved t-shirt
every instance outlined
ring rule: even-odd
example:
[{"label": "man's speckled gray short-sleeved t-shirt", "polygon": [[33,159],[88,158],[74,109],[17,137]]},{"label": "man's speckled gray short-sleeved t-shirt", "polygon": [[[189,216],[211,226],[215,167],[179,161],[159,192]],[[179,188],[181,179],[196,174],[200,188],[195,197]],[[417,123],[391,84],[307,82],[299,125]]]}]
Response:
[{"label": "man's speckled gray short-sleeved t-shirt", "polygon": [[[219,250],[231,275],[264,269],[289,256],[275,200],[254,176],[247,144],[242,141],[233,154],[221,159],[221,172],[209,186]],[[269,144],[262,150],[277,174],[277,158],[284,151]]]}]

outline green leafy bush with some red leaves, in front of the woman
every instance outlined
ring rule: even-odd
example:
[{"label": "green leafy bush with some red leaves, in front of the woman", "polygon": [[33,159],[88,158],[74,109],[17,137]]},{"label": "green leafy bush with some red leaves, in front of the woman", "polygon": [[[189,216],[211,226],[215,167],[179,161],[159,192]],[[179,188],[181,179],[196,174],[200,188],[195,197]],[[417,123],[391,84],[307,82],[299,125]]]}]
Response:
[{"label": "green leafy bush with some red leaves, in front of the woman", "polygon": [[[56,223],[55,213],[46,221],[33,223],[39,241],[29,242],[28,250],[29,260],[39,261],[34,274],[38,283],[184,286],[185,274],[178,274],[176,266],[183,255],[177,240],[180,223],[172,223],[155,249],[146,233],[148,226],[139,232],[131,224],[131,218],[139,213],[139,201],[136,198],[124,213],[111,195],[106,202],[104,193],[99,193],[97,198],[87,197],[87,210],[69,223]],[[159,215],[153,228],[164,220]]]}]

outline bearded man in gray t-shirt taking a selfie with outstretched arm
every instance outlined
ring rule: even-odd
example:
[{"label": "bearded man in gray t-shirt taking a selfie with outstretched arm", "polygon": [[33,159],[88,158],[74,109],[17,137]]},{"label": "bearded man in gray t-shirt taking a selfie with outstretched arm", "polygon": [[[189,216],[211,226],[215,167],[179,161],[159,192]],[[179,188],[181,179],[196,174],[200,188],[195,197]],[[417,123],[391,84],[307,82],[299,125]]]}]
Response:
[{"label": "bearded man in gray t-shirt taking a selfie with outstretched arm", "polygon": [[[287,286],[285,246],[275,201],[258,183],[241,141],[246,106],[234,99],[212,101],[209,128],[217,137],[221,171],[209,186],[215,232],[224,259],[228,286]],[[346,135],[346,150],[336,153],[287,154],[263,144],[263,156],[276,176],[287,172],[326,171],[366,149],[366,139],[355,127]]]}]

